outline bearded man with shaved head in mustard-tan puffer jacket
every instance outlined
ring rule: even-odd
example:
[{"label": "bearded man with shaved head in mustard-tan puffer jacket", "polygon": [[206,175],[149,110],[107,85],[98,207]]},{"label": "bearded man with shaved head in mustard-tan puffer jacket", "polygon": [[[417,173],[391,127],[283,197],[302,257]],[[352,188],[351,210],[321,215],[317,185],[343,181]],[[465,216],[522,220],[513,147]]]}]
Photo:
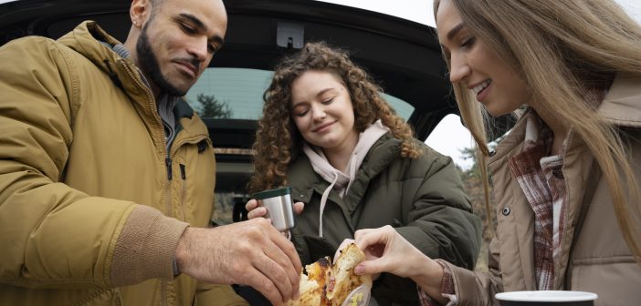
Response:
[{"label": "bearded man with shaved head in mustard-tan puffer jacket", "polygon": [[0,48],[0,305],[279,304],[300,261],[268,221],[206,229],[215,158],[180,97],[223,45],[220,0],[134,0],[121,44],[94,22]]}]

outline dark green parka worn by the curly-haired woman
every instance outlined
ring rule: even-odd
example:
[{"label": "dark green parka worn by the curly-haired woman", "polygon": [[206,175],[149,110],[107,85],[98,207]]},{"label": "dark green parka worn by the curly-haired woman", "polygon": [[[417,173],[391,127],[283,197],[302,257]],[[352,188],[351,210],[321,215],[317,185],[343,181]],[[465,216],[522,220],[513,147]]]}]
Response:
[{"label": "dark green parka worn by the curly-haired woman", "polygon": [[[352,185],[339,197],[331,190],[323,210],[319,237],[321,195],[330,183],[302,155],[288,171],[292,199],[305,203],[291,231],[303,264],[334,256],[342,240],[355,230],[392,225],[418,250],[434,259],[472,269],[480,247],[480,221],[472,208],[451,158],[425,148],[419,158],[401,158],[401,140],[385,134],[370,148]],[[373,284],[381,305],[390,301],[417,304],[416,285],[408,279],[382,274]]]}]

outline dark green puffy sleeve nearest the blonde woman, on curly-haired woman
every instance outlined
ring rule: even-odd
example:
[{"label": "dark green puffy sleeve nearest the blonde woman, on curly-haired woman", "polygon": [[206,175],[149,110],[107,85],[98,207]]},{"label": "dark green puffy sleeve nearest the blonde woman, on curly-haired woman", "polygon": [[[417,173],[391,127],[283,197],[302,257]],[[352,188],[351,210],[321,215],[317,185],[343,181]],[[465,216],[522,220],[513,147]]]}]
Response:
[{"label": "dark green puffy sleeve nearest the blonde woman, on curly-haired woman", "polygon": [[[406,219],[393,224],[395,230],[430,258],[473,269],[480,249],[480,219],[472,213],[452,159],[427,149],[407,168],[417,179],[405,180],[401,195]],[[374,286],[381,296],[397,299],[398,292],[404,292],[403,299],[418,299],[415,283],[393,274],[382,274]]]}]

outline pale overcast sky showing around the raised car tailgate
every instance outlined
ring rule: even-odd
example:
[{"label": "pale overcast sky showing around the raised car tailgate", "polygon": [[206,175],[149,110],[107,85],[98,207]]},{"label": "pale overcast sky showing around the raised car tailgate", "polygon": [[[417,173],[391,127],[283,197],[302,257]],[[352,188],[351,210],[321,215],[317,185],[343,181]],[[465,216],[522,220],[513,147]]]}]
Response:
[{"label": "pale overcast sky showing around the raised car tailgate", "polygon": [[[361,7],[372,11],[382,12],[388,15],[396,15],[428,26],[436,26],[432,12],[432,0],[320,0],[324,2],[337,3]],[[580,0],[558,0],[558,1],[580,1]],[[616,0],[622,5],[628,14],[641,23],[641,1],[640,0]],[[435,148],[442,154],[450,156],[461,168],[471,167],[471,160],[461,157],[462,148],[470,148],[473,145],[468,129],[460,123],[460,117],[449,115],[445,117],[436,129],[426,140],[426,144]]]}]

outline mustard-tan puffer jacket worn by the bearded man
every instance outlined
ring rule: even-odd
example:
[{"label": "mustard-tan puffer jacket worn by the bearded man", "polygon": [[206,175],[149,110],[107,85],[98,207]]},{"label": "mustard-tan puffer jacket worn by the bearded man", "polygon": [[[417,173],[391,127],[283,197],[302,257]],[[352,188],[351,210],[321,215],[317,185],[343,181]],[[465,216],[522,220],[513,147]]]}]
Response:
[{"label": "mustard-tan puffer jacket worn by the bearded man", "polygon": [[180,235],[212,214],[205,125],[180,102],[166,152],[151,91],[99,40],[118,44],[86,22],[0,48],[0,305],[246,305],[173,278]]}]

